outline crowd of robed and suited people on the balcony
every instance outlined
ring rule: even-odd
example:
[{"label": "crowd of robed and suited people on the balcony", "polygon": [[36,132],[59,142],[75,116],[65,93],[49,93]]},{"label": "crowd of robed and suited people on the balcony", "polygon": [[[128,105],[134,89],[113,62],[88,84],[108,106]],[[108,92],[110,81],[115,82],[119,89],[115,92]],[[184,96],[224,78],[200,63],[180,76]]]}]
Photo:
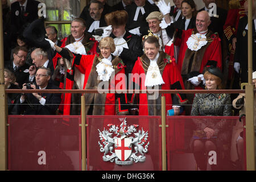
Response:
[{"label": "crowd of robed and suited people on the balcony", "polygon": [[[104,90],[240,89],[241,82],[248,81],[245,0],[230,1],[229,10],[211,10],[214,0],[203,0],[205,7],[200,10],[193,0],[173,0],[175,6],[163,0],[122,0],[113,7],[106,0],[92,0],[80,17],[72,20],[71,35],[63,40],[58,39],[55,27],[44,27],[34,12],[39,2],[18,0],[10,9],[2,2],[6,10],[6,89],[97,89],[98,93],[85,94],[86,114],[160,115],[161,94]],[[46,34],[46,39],[35,38],[38,32]],[[253,0],[253,60],[255,35]],[[253,74],[256,79],[256,72]],[[79,115],[80,96],[8,94],[9,114]],[[239,96],[232,108],[236,94],[164,96],[167,110],[174,109],[174,115],[228,116],[244,104],[244,96]],[[204,131],[208,139],[220,135],[225,143],[231,135],[223,121],[216,125],[195,121],[195,125],[195,130]],[[200,169],[206,169],[199,157],[202,151],[216,146],[213,140],[193,141],[191,147]]]}]

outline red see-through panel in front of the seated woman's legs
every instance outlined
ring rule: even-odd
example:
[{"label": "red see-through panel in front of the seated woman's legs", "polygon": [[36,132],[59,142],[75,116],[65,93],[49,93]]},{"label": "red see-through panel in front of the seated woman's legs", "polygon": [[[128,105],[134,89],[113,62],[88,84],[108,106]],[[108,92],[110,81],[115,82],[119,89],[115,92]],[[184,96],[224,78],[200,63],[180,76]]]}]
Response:
[{"label": "red see-through panel in front of the seated woman's legs", "polygon": [[167,117],[167,166],[172,171],[245,170],[239,117]]}]

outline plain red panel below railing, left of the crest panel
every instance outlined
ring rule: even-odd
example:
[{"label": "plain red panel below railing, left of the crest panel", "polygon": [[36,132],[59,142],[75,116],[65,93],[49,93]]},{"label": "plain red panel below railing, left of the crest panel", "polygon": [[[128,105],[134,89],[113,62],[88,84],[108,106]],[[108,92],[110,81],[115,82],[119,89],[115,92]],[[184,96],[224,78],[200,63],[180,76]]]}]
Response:
[{"label": "plain red panel below railing, left of the crest panel", "polygon": [[80,121],[80,116],[9,115],[9,170],[81,170]]}]

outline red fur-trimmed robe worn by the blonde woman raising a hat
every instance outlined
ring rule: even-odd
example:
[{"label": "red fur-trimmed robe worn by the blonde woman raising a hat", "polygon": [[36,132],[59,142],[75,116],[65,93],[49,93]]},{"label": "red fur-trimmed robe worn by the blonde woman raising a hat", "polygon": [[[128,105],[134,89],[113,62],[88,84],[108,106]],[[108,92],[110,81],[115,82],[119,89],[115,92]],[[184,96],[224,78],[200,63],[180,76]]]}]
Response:
[{"label": "red fur-trimmed robe worn by the blonde woman raising a hat", "polygon": [[[122,60],[119,57],[112,56],[112,65],[114,72],[109,81],[103,83],[102,80],[98,80],[98,73],[96,71],[96,65],[100,63],[104,57],[100,55],[79,55],[73,54],[73,64],[85,74],[84,89],[106,89],[103,86],[108,86],[108,89],[114,90],[126,90],[125,80],[125,68]],[[104,84],[104,85],[103,85]],[[101,90],[101,92],[103,92]],[[127,101],[126,94],[115,93],[85,93],[85,113],[88,114],[90,109],[93,115],[125,115],[128,113],[128,109],[121,105]],[[109,90],[108,90],[109,92]],[[127,103],[127,102],[126,102]]]}]

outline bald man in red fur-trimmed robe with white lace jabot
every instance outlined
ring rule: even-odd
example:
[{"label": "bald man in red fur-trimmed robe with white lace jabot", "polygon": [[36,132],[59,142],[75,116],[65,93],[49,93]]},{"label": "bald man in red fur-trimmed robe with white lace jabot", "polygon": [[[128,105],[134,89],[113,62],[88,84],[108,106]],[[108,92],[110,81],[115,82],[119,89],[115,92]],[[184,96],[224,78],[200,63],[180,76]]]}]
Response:
[{"label": "bald man in red fur-trimmed robe with white lace jabot", "polygon": [[[163,21],[169,24],[171,19],[165,16]],[[196,30],[175,32],[174,45],[180,47],[177,66],[186,89],[194,89],[201,83],[205,67],[214,65],[222,69],[221,40],[208,30],[209,25],[209,14],[200,11],[196,16]]]}]

